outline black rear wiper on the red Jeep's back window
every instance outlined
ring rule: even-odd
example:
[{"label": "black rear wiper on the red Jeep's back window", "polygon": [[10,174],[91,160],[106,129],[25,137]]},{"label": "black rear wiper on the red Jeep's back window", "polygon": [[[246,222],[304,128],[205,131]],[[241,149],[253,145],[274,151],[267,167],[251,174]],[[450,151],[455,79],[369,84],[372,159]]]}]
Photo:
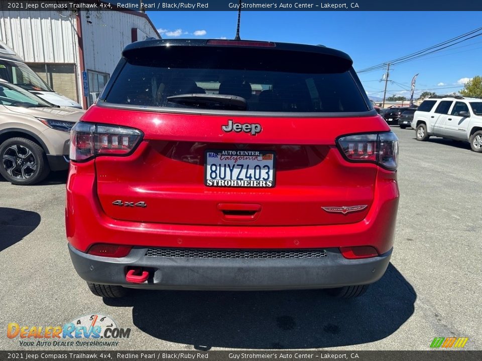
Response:
[{"label": "black rear wiper on the red Jeep's back window", "polygon": [[208,109],[246,110],[245,98],[225,94],[179,94],[167,97],[169,103]]}]

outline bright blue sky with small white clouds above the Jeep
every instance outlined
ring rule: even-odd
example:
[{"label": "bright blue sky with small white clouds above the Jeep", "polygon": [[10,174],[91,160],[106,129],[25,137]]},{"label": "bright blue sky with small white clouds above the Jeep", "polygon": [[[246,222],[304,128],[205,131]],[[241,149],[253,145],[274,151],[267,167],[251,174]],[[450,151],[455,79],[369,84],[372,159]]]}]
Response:
[{"label": "bright blue sky with small white clouds above the Jeep", "polygon": [[[233,39],[237,12],[147,12],[164,39]],[[441,43],[481,26],[474,12],[242,12],[240,36],[323,44],[346,52],[360,70]],[[372,97],[383,97],[384,70],[359,74]],[[482,75],[482,36],[391,68],[388,94],[410,96],[410,81],[420,73],[415,95],[456,92]]]}]

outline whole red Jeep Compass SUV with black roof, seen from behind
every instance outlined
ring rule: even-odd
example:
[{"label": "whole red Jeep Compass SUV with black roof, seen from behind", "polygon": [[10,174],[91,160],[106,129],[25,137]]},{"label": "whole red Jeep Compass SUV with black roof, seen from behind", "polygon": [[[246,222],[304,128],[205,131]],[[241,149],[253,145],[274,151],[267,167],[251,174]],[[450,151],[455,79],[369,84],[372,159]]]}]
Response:
[{"label": "whole red Jeep Compass SUV with black roof, seen from behind", "polygon": [[384,274],[398,139],[322,46],[127,46],[72,129],[66,230],[90,290],[328,288]]}]

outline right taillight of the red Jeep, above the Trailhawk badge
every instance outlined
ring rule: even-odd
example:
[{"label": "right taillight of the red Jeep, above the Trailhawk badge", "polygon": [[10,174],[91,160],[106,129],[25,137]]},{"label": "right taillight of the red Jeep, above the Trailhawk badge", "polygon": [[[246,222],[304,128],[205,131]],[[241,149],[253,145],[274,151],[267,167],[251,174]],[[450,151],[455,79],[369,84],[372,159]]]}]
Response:
[{"label": "right taillight of the red Jeep, above the Trailhawk badge", "polygon": [[346,135],[337,140],[341,154],[353,162],[372,162],[397,169],[398,138],[393,132]]}]

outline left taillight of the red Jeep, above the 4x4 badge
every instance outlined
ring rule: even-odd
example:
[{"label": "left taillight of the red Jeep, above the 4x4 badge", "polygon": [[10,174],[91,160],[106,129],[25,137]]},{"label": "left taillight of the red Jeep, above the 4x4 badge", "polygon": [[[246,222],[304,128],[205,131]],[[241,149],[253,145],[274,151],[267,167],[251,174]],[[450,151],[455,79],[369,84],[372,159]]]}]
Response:
[{"label": "left taillight of the red Jeep, above the 4x4 badge", "polygon": [[134,128],[78,122],[70,133],[70,160],[81,162],[97,155],[128,155],[142,135]]}]

